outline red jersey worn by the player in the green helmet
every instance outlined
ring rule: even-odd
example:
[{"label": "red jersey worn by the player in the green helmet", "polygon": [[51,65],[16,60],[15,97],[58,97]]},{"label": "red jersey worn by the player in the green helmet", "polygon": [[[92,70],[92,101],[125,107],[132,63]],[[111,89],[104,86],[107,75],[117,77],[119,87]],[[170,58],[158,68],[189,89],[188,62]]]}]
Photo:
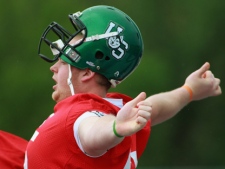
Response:
[{"label": "red jersey worn by the player in the green helmet", "polygon": [[[121,94],[109,94],[107,97],[131,100]],[[24,168],[28,169],[123,169],[135,168],[137,160],[148,140],[150,123],[137,134],[124,140],[100,157],[90,157],[79,148],[73,126],[78,117],[87,111],[99,111],[116,115],[119,108],[94,94],[76,94],[54,107],[54,114],[46,119],[31,138],[27,150]],[[137,143],[141,138],[141,144]],[[138,145],[138,147],[137,147]],[[137,153],[136,153],[137,151]],[[128,167],[127,167],[128,166]]]}]

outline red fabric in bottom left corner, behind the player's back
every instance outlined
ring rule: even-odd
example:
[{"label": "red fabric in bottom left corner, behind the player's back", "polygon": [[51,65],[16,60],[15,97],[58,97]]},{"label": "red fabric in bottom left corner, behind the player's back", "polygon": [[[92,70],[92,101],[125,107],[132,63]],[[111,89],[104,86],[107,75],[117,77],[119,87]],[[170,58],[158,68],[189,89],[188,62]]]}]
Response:
[{"label": "red fabric in bottom left corner, behind the player's back", "polygon": [[0,168],[22,169],[28,141],[0,130]]}]

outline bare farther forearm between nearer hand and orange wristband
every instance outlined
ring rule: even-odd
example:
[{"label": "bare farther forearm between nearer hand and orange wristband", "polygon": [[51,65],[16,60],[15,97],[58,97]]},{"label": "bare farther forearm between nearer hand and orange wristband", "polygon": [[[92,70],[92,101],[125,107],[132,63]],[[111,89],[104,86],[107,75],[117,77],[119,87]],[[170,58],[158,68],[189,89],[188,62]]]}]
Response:
[{"label": "bare farther forearm between nearer hand and orange wristband", "polygon": [[151,124],[156,125],[170,119],[185,107],[190,102],[190,93],[180,87],[152,95],[146,100],[152,103]]}]

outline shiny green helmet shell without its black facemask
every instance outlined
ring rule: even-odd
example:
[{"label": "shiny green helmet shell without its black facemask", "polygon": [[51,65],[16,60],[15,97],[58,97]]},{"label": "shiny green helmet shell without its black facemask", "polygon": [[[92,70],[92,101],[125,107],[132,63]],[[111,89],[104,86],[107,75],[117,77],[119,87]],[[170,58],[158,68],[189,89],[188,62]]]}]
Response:
[{"label": "shiny green helmet shell without its black facemask", "polygon": [[94,6],[84,10],[79,17],[86,27],[87,37],[118,32],[117,36],[83,42],[75,47],[80,59],[70,65],[89,68],[109,81],[121,82],[139,64],[143,53],[143,40],[135,22],[124,12],[111,6]]}]

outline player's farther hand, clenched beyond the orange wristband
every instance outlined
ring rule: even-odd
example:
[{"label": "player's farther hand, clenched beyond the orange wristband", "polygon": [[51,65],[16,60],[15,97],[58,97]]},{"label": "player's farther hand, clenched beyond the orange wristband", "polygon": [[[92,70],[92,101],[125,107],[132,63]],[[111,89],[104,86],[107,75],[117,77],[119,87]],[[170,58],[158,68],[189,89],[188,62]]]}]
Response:
[{"label": "player's farther hand, clenched beyond the orange wristband", "polygon": [[220,79],[215,78],[209,68],[210,64],[206,62],[200,69],[187,77],[185,85],[192,89],[193,100],[201,100],[222,93]]}]

